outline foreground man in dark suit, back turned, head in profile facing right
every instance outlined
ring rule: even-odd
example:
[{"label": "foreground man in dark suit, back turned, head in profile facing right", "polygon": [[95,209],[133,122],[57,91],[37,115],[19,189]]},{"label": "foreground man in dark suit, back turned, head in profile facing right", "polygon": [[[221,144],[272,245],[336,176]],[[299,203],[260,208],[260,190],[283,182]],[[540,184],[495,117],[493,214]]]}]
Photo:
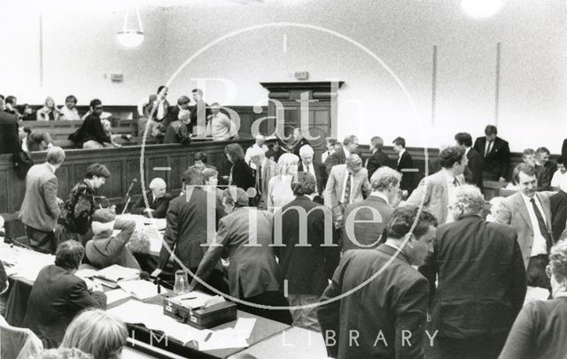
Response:
[{"label": "foreground man in dark suit, back turned, head in profile facing right", "polygon": [[423,358],[429,284],[412,265],[423,264],[436,225],[427,211],[399,208],[384,244],[346,252],[317,309],[330,357]]}]

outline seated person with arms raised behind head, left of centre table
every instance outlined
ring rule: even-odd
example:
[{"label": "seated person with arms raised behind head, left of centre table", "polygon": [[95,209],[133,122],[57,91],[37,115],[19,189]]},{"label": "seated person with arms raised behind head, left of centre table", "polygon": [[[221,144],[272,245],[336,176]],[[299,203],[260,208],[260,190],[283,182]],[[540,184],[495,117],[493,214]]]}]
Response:
[{"label": "seated person with arms raised behind head, left of centre table", "polygon": [[[113,264],[122,267],[140,269],[140,264],[128,249],[128,241],[136,230],[133,220],[116,219],[116,213],[109,209],[95,210],[92,216],[94,237],[85,246],[85,255],[89,263],[97,268],[106,268]],[[120,231],[116,235],[114,230]]]}]

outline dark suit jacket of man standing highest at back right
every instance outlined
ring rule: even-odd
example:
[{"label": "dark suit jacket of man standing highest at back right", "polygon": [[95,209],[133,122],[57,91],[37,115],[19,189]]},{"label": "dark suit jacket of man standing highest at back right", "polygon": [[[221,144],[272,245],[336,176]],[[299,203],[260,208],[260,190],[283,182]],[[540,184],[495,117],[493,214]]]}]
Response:
[{"label": "dark suit jacket of man standing highest at back right", "polygon": [[510,167],[510,149],[508,141],[496,137],[493,148],[488,155],[485,154],[486,137],[478,137],[475,141],[474,149],[484,159],[483,171],[489,173],[490,177],[498,180],[500,177],[508,179]]}]

